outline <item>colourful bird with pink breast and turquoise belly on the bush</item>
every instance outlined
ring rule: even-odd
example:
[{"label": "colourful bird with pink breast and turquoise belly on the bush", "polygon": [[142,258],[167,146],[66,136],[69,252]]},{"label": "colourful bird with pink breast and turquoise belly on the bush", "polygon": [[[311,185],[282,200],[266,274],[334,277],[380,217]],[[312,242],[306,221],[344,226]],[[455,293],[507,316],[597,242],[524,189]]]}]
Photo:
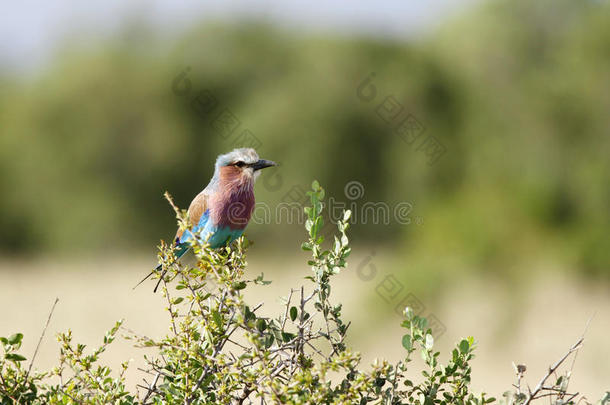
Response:
[{"label": "colourful bird with pink breast and turquoise belly on the bush", "polygon": [[[259,159],[252,148],[240,148],[218,156],[210,183],[191,202],[188,209],[192,230],[178,230],[174,238],[176,257],[190,248],[189,240],[198,233],[212,249],[233,242],[243,233],[254,210],[254,181],[265,167],[277,166],[270,160]],[[155,271],[161,269],[157,266]],[[155,273],[152,271],[138,285]],[[154,291],[157,291],[165,271]],[[135,288],[135,287],[134,287]]]}]

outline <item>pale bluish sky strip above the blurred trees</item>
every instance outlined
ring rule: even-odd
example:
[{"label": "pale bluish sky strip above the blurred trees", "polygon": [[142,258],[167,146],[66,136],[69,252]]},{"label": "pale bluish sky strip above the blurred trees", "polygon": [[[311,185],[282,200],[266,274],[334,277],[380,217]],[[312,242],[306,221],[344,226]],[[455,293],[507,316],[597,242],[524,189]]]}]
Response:
[{"label": "pale bluish sky strip above the blurred trees", "polygon": [[[127,19],[180,33],[205,19],[256,18],[283,27],[343,34],[412,37],[433,29],[477,0],[22,0],[0,14],[0,68],[29,70],[43,63],[66,36],[83,41],[111,35]],[[87,33],[87,35],[77,35]]]}]

